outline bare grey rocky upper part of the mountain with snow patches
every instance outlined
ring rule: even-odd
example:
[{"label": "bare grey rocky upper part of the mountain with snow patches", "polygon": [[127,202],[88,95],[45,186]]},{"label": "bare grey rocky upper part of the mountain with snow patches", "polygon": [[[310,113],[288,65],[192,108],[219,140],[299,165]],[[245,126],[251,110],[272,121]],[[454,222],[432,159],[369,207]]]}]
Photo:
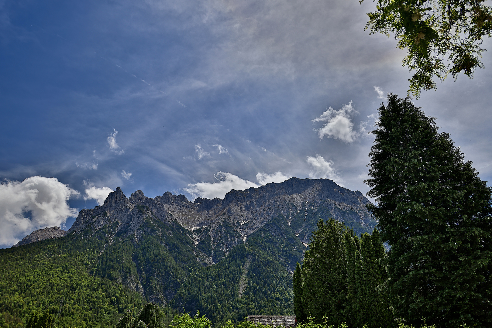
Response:
[{"label": "bare grey rocky upper part of the mountain with snow patches", "polygon": [[333,217],[358,234],[371,231],[376,222],[365,207],[367,203],[369,200],[359,191],[340,187],[329,179],[291,178],[258,188],[231,190],[224,199],[197,198],[193,203],[184,195],[170,192],[147,198],[137,190],[127,198],[117,188],[104,205],[81,210],[66,235],[85,231],[91,238],[106,225],[110,238],[117,233],[120,239],[134,235],[138,242],[138,228],[146,217],[152,217],[187,229],[197,253],[207,254],[216,263],[272,218],[285,219],[306,245],[320,218]]}]

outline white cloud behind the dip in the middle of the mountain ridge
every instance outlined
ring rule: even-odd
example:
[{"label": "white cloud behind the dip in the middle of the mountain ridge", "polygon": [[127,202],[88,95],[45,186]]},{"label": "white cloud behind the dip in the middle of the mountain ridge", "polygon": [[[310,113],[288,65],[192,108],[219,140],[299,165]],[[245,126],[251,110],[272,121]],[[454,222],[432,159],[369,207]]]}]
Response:
[{"label": "white cloud behind the dip in the middle of the mountain ridge", "polygon": [[231,191],[231,189],[244,190],[249,187],[259,187],[256,183],[241,179],[232,173],[219,171],[214,175],[214,178],[218,182],[190,183],[188,184],[188,188],[184,188],[184,190],[195,198],[214,199],[215,197],[224,198],[225,194]]}]

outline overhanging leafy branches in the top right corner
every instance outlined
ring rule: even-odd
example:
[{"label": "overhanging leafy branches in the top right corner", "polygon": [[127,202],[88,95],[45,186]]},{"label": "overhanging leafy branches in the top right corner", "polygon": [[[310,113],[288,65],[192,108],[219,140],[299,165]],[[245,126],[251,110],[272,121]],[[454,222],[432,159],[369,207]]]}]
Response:
[{"label": "overhanging leafy branches in the top right corner", "polygon": [[[362,2],[364,0],[361,0]],[[395,33],[400,49],[407,49],[403,65],[415,70],[408,90],[436,89],[448,74],[473,77],[492,33],[492,7],[484,0],[377,0],[366,29],[387,36]]]}]

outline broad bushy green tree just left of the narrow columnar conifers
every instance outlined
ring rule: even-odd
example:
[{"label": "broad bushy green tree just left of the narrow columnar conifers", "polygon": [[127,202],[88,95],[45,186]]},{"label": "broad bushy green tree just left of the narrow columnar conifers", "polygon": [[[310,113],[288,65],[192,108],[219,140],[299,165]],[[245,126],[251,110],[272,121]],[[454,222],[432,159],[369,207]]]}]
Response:
[{"label": "broad bushy green tree just left of the narrow columnar conifers", "polygon": [[303,264],[303,307],[307,316],[330,324],[341,322],[347,298],[344,235],[352,234],[341,222],[332,218],[318,222],[318,230],[311,236],[309,250]]}]

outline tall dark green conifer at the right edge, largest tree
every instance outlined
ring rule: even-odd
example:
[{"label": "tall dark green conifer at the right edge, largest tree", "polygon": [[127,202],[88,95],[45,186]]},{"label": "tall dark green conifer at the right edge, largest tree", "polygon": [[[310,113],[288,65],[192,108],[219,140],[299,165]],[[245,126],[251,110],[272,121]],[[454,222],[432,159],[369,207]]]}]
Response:
[{"label": "tall dark green conifer at the right edge, largest tree", "polygon": [[370,152],[369,205],[388,241],[387,292],[417,326],[492,324],[491,188],[410,98],[389,94]]}]

